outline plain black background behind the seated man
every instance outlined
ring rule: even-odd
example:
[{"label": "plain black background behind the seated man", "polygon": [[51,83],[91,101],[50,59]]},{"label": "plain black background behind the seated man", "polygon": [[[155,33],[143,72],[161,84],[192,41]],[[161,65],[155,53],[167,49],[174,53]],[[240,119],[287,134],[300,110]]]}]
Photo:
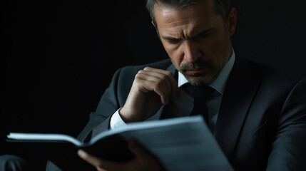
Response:
[{"label": "plain black background behind the seated man", "polygon": [[[306,76],[303,1],[235,0],[237,56]],[[304,3],[305,4],[305,3]],[[121,66],[167,58],[144,1],[1,1],[0,155],[8,132],[76,136]]]}]

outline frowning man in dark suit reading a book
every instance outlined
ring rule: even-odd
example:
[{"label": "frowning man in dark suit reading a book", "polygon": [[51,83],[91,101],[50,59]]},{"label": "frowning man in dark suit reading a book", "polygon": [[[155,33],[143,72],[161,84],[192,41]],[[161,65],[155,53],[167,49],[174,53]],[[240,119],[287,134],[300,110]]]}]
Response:
[{"label": "frowning man in dark suit reading a book", "polygon": [[[208,126],[235,170],[305,170],[306,80],[235,55],[237,11],[229,1],[147,0],[147,8],[170,60],[119,69],[78,138],[175,117],[160,108],[190,83],[213,88]],[[125,163],[78,155],[97,170],[162,170],[136,141],[129,147],[136,157]]]}]

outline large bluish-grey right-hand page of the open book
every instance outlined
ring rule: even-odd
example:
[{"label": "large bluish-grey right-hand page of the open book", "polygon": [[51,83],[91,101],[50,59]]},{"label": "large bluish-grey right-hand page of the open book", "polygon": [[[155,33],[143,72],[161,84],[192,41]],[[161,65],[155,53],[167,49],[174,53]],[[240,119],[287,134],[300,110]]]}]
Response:
[{"label": "large bluish-grey right-hand page of the open book", "polygon": [[136,138],[166,170],[233,170],[201,116],[148,121],[146,127],[120,135]]}]

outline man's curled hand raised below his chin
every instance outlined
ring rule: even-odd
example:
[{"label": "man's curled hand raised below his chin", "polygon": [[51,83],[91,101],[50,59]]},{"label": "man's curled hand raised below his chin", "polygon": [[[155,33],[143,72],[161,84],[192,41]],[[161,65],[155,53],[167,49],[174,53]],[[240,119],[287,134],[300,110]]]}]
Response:
[{"label": "man's curled hand raised below his chin", "polygon": [[119,110],[126,123],[146,120],[153,116],[178,91],[173,73],[146,67],[138,71],[126,104]]}]

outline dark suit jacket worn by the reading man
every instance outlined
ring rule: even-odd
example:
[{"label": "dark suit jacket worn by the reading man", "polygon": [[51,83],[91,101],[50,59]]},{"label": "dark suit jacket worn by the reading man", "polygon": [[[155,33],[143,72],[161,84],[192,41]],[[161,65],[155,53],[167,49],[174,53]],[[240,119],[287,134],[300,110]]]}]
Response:
[{"label": "dark suit jacket worn by the reading man", "polygon": [[[175,73],[170,60],[146,66]],[[78,139],[108,130],[134,76],[146,66],[116,71]],[[306,79],[237,58],[215,125],[215,138],[235,170],[306,170]]]}]

